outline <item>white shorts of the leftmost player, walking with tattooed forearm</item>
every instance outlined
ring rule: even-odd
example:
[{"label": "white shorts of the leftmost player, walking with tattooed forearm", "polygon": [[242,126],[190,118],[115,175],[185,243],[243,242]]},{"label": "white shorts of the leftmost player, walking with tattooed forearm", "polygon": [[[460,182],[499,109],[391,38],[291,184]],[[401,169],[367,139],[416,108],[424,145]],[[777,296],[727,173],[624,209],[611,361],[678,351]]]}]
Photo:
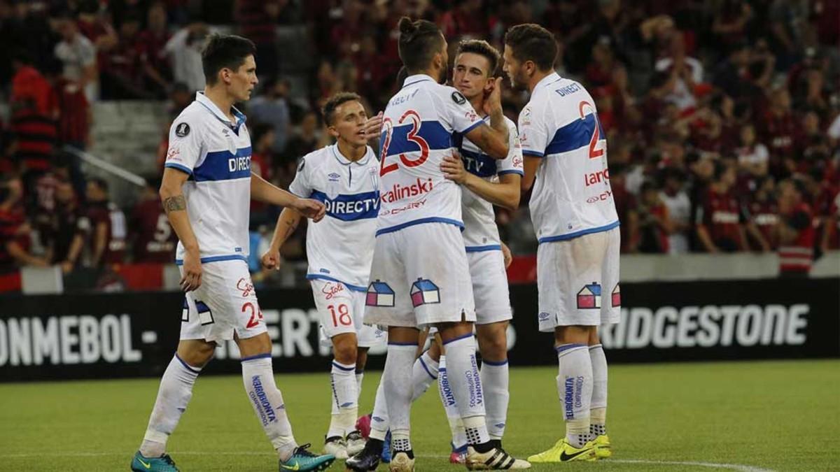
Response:
[{"label": "white shorts of the leftmost player, walking with tattooed forearm", "polygon": [[[181,265],[181,275],[184,267]],[[260,305],[248,263],[220,260],[202,264],[202,285],[186,292],[181,313],[181,339],[222,341],[265,333]]]}]

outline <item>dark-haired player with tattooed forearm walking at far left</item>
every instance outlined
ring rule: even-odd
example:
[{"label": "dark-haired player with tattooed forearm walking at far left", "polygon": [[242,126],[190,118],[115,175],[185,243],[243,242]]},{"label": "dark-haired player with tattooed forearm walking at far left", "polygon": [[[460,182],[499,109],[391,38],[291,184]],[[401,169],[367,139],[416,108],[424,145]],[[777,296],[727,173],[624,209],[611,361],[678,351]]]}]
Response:
[{"label": "dark-haired player with tattooed forearm walking at far left", "polygon": [[[335,459],[298,446],[271,370],[266,333],[245,262],[251,197],[323,218],[323,203],[295,197],[250,171],[245,117],[234,102],[257,83],[255,46],[239,36],[211,37],[202,51],[204,92],[172,124],[160,197],[178,234],[176,264],[186,292],[181,342],[160,380],[149,427],[131,463],[136,471],[177,470],[165,454],[202,367],[220,341],[234,339],[242,355],[249,403],[280,458],[280,469],[322,470]],[[208,453],[210,454],[210,453]]]}]

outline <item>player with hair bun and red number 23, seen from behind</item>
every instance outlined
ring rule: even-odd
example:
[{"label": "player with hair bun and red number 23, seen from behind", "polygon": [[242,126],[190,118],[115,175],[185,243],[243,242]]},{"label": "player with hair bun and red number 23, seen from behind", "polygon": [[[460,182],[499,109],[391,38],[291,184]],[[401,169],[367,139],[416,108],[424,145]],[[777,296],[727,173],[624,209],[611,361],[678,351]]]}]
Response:
[{"label": "player with hair bun and red number 23, seen from behind", "polygon": [[[508,152],[501,89],[494,81],[482,113],[463,94],[439,84],[446,76],[446,39],[433,23],[399,22],[400,58],[409,73],[388,102],[382,125],[381,208],[370,270],[365,323],[388,326],[383,373],[394,455],[392,471],[414,469],[409,437],[412,364],[417,328],[438,327],[448,353],[450,382],[465,424],[470,469],[501,469],[513,459],[496,450],[487,433],[484,398],[475,361],[475,307],[470,268],[461,237],[460,189],[444,178],[444,155],[453,134],[464,134],[494,159]],[[373,470],[382,437],[371,433],[365,449],[347,460],[353,470]]]}]

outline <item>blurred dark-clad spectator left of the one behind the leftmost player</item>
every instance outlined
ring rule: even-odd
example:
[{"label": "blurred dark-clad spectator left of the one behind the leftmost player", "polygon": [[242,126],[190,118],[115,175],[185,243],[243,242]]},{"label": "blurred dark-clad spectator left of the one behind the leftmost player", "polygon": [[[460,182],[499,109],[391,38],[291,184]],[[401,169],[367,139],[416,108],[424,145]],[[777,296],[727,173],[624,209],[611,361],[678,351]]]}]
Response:
[{"label": "blurred dark-clad spectator left of the one behind the leftmost player", "polygon": [[79,220],[80,233],[71,244],[68,260],[78,261],[85,254],[87,265],[120,264],[125,257],[125,215],[108,200],[108,183],[102,179],[87,182],[87,211]]}]

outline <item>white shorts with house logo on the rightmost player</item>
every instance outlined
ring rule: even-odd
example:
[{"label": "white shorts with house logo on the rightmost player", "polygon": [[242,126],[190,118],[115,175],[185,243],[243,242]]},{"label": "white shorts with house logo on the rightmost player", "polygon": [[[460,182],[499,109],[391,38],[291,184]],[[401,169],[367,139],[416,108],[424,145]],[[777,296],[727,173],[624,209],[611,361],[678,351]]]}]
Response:
[{"label": "white shorts with house logo on the rightmost player", "polygon": [[540,331],[618,323],[622,306],[618,285],[620,247],[618,228],[539,245]]}]

